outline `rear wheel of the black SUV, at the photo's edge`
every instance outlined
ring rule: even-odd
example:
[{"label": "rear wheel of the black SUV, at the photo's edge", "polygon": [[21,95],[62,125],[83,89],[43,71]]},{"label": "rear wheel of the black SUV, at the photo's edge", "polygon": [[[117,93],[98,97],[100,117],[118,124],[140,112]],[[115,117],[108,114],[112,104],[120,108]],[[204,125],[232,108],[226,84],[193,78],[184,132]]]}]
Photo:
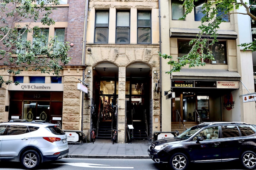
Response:
[{"label": "rear wheel of the black SUV, at the photo's edge", "polygon": [[256,154],[252,151],[246,151],[241,156],[242,165],[246,169],[255,169],[256,167]]}]

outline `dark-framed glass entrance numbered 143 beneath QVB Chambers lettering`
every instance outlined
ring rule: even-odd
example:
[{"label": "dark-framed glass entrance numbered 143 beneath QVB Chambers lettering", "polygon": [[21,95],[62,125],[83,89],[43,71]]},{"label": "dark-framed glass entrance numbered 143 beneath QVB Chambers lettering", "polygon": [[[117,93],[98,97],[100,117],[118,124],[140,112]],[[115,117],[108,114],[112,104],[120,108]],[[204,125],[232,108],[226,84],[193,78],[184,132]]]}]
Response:
[{"label": "dark-framed glass entrance numbered 143 beneath QVB Chambers lettering", "polygon": [[9,120],[43,120],[62,125],[63,92],[11,91]]}]

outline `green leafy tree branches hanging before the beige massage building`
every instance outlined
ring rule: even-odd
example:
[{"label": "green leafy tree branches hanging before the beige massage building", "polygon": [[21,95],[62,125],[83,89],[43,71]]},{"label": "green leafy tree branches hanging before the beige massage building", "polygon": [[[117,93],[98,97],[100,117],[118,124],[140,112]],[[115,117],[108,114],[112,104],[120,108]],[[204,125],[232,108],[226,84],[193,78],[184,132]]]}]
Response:
[{"label": "green leafy tree branches hanging before the beige massage building", "polygon": [[[194,3],[200,0],[184,0],[183,7],[185,10],[184,15],[180,18],[180,20],[184,20],[185,17],[191,13],[195,7]],[[254,0],[250,0],[250,4],[255,4]],[[199,34],[197,38],[192,39],[189,42],[189,45],[192,46],[189,53],[187,55],[178,57],[177,60],[174,60],[172,56],[167,54],[161,54],[159,52],[159,56],[164,59],[169,59],[167,64],[172,66],[170,71],[166,73],[171,74],[172,72],[178,72],[182,67],[188,64],[189,68],[204,66],[206,63],[203,61],[206,60],[214,60],[214,56],[212,54],[209,46],[218,42],[217,40],[217,29],[219,29],[219,25],[225,21],[225,17],[231,14],[244,14],[249,15],[252,18],[252,21],[256,21],[256,10],[252,7],[252,5],[245,3],[243,0],[233,1],[233,0],[209,0],[206,1],[202,6],[202,13],[204,16],[201,18],[201,25],[199,28]],[[245,13],[238,13],[236,9],[239,7],[245,7]],[[206,39],[203,35],[208,35]],[[238,46],[243,46],[244,50],[252,50],[256,51],[256,42],[252,43],[244,43]]]}]

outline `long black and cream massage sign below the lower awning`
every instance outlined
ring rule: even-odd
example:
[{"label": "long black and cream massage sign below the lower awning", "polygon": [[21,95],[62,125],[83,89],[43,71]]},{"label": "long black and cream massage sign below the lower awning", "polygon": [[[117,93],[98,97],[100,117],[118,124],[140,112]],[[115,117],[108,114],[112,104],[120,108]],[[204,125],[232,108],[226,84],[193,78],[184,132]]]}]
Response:
[{"label": "long black and cream massage sign below the lower awning", "polygon": [[239,81],[172,80],[172,88],[239,88]]}]

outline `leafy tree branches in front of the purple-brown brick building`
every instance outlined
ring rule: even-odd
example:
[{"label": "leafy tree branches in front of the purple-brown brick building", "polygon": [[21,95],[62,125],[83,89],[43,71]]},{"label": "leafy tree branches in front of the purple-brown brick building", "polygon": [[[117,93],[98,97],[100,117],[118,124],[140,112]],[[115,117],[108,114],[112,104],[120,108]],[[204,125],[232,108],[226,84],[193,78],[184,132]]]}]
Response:
[{"label": "leafy tree branches in front of the purple-brown brick building", "polygon": [[[41,33],[44,28],[33,25],[54,25],[50,14],[56,5],[59,0],[0,0],[0,69],[15,75],[31,69],[59,76],[63,65],[70,61],[68,42],[59,43],[56,36],[48,41],[48,36]],[[24,40],[27,33],[32,33],[33,41]],[[0,76],[0,85],[10,83],[10,79]]]}]

